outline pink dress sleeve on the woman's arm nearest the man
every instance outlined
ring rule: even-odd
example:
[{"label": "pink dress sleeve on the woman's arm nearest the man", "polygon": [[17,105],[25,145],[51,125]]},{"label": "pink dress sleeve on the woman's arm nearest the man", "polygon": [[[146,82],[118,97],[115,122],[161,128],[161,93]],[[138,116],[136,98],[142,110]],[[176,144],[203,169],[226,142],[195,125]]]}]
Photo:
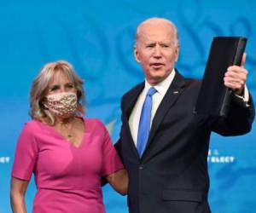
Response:
[{"label": "pink dress sleeve on the woman's arm nearest the man", "polygon": [[113,147],[113,143],[108,134],[108,130],[103,124],[104,141],[103,141],[103,156],[102,156],[102,176],[108,176],[117,170],[124,169],[118,153]]}]

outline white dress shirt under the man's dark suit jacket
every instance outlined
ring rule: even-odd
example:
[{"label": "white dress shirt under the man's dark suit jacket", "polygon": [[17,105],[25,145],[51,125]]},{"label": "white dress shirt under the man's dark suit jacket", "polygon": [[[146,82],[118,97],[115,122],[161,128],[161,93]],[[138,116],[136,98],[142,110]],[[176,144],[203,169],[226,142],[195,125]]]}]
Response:
[{"label": "white dress shirt under the man's dark suit jacket", "polygon": [[[157,92],[152,96],[152,109],[151,109],[151,118],[150,118],[150,128],[152,124],[152,120],[154,118],[155,112],[157,111],[158,107],[160,106],[160,102],[163,100],[164,96],[166,95],[167,89],[170,87],[173,78],[175,77],[175,70],[173,69],[169,76],[163,80],[162,82],[154,85],[154,89]],[[142,93],[139,95],[135,106],[132,109],[131,116],[129,118],[129,126],[131,130],[131,136],[137,147],[137,131],[140,122],[141,112],[143,109],[143,103],[145,101],[146,95],[148,93],[148,89],[152,87],[148,81],[145,79],[145,87]]]}]

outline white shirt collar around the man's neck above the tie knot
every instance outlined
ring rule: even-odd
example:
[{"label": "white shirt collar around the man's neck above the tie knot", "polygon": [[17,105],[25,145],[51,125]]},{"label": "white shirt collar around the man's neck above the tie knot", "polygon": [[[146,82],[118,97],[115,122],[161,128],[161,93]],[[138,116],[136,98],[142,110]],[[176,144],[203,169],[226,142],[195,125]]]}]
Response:
[{"label": "white shirt collar around the man's neck above the tie knot", "polygon": [[[175,70],[174,68],[172,69],[172,72],[167,76],[166,79],[164,79],[163,81],[161,81],[160,83],[154,85],[154,89],[157,90],[158,93],[160,93],[161,95],[165,95],[166,94],[166,91],[167,89],[170,87],[172,81],[173,81],[173,78],[175,77]],[[148,89],[152,87],[147,79],[145,79],[145,88],[144,88],[144,91],[148,91]]]}]

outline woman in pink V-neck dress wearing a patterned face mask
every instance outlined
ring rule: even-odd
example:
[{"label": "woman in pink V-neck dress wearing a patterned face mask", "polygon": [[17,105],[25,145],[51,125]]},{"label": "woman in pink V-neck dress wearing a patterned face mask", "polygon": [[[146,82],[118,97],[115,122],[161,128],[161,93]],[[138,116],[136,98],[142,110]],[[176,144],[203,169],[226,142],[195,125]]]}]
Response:
[{"label": "woman in pink V-neck dress wearing a patterned face mask", "polygon": [[83,81],[66,61],[45,65],[32,83],[32,121],[20,133],[11,180],[13,212],[26,212],[32,173],[34,213],[102,213],[102,177],[119,193],[128,177],[108,131],[83,118]]}]

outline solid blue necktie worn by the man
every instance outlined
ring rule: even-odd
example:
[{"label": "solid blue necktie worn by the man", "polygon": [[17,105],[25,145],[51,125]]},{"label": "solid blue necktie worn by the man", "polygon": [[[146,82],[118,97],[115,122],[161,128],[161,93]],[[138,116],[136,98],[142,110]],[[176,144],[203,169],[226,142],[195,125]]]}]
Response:
[{"label": "solid blue necktie worn by the man", "polygon": [[137,132],[137,153],[140,157],[142,157],[148,141],[152,109],[152,95],[154,95],[155,92],[156,89],[154,89],[154,87],[149,88],[143,103],[143,109],[141,112],[141,118]]}]

